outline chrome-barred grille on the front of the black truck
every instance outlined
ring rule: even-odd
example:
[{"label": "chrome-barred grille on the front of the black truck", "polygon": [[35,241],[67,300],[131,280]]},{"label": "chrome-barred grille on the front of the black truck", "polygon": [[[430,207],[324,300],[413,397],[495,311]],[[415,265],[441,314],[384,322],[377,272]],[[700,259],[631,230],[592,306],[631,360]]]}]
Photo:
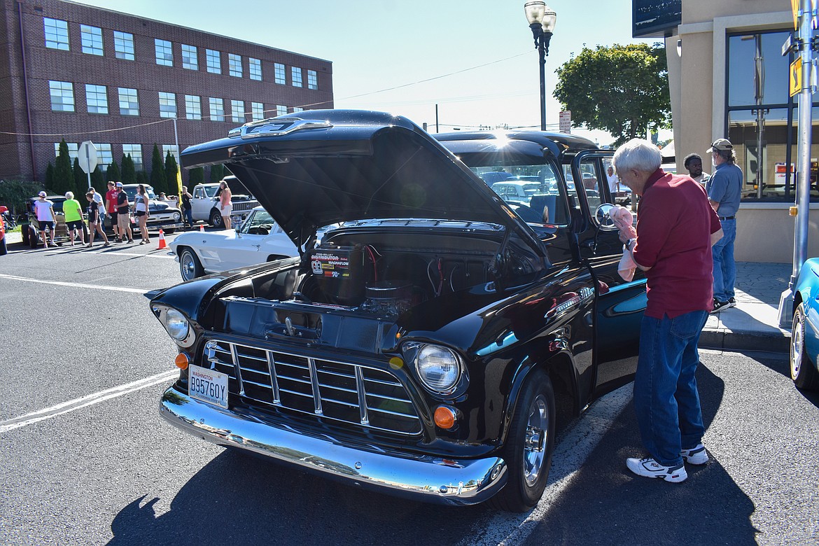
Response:
[{"label": "chrome-barred grille on the front of the black truck", "polygon": [[229,392],[243,399],[369,429],[421,432],[412,400],[390,372],[229,341],[210,340],[204,353],[203,365],[227,373]]}]

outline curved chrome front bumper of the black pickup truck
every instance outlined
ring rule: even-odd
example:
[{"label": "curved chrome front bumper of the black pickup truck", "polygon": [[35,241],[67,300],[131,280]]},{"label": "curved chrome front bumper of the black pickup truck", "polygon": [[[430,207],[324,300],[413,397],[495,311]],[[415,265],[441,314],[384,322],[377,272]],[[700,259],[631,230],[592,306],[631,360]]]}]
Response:
[{"label": "curved chrome front bumper of the black pickup truck", "polygon": [[444,459],[342,444],[328,435],[305,435],[287,426],[217,408],[171,386],[160,414],[188,434],[247,449],[302,470],[365,489],[428,503],[476,504],[506,483],[502,458]]}]

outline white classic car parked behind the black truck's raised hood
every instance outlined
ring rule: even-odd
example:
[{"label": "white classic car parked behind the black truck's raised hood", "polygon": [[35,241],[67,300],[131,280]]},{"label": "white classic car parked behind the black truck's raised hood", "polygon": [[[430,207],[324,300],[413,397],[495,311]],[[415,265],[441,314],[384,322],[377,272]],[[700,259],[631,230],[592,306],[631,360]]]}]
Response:
[{"label": "white classic car parked behind the black truck's raised hood", "polygon": [[185,281],[299,255],[287,233],[260,206],[236,230],[181,233],[169,246]]}]

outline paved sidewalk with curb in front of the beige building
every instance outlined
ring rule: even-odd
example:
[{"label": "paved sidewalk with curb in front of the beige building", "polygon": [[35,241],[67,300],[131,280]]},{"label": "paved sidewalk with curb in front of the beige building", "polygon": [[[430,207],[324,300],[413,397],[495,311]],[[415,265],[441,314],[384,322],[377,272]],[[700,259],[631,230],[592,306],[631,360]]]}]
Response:
[{"label": "paved sidewalk with curb in front of the beige building", "polygon": [[737,262],[736,307],[708,316],[699,346],[787,353],[790,330],[778,327],[777,318],[792,270],[791,264]]}]

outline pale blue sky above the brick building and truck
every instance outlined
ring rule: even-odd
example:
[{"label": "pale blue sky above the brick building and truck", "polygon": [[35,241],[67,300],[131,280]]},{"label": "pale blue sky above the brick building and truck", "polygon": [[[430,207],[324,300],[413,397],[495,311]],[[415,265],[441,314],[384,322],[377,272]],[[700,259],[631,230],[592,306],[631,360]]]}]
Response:
[{"label": "pale blue sky above the brick building and truck", "polygon": [[[540,77],[524,0],[75,0],[333,62],[337,108],[387,111],[438,129],[540,126]],[[584,46],[631,38],[631,0],[547,0],[546,124],[554,74]],[[238,9],[241,6],[241,9]],[[436,120],[437,106],[437,120]],[[608,133],[573,129],[600,145]]]}]

